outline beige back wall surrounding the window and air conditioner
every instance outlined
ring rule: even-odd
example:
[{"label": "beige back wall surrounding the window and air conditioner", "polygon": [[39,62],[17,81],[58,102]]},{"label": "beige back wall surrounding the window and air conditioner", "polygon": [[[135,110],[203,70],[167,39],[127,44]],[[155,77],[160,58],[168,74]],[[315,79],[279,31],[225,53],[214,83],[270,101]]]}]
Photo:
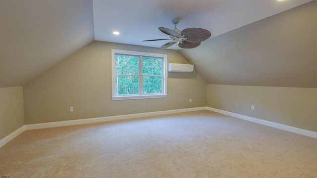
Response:
[{"label": "beige back wall surrounding the window and air conditioner", "polygon": [[178,51],[93,42],[24,86],[25,124],[206,106],[206,83],[196,71],[168,73],[167,98],[112,101],[111,48],[163,53],[168,63],[187,63]]}]

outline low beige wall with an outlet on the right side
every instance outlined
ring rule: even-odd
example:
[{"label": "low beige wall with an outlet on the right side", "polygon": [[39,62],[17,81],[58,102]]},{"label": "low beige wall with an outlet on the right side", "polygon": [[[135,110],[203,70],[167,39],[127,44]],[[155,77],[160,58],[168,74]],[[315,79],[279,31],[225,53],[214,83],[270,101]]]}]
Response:
[{"label": "low beige wall with an outlet on the right side", "polygon": [[317,132],[315,88],[209,84],[207,106]]}]

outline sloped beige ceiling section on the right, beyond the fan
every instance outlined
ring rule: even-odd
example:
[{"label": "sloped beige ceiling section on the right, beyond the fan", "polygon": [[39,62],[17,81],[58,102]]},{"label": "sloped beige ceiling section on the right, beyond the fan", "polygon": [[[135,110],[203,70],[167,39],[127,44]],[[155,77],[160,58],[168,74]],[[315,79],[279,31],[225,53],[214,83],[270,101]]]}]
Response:
[{"label": "sloped beige ceiling section on the right, beyond the fan", "polygon": [[208,84],[317,88],[317,0],[180,53]]}]

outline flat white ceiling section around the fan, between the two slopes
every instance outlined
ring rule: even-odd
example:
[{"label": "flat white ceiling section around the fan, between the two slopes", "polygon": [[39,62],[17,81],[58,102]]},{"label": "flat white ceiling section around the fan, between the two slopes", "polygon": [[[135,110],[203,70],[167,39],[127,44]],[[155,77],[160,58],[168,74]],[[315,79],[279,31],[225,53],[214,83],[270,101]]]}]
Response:
[{"label": "flat white ceiling section around the fan, between the two slopes", "polygon": [[[95,40],[160,47],[166,39],[158,27],[204,28],[211,37],[280,13],[312,0],[93,0]],[[120,32],[119,36],[112,35]],[[203,44],[203,43],[202,43]],[[170,49],[180,49],[177,45]]]}]

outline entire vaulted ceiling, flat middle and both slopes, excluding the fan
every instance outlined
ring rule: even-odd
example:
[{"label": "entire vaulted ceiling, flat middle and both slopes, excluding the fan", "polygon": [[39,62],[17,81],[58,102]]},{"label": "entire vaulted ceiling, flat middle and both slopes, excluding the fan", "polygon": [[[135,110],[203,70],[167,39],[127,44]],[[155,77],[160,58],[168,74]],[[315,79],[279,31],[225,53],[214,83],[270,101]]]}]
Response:
[{"label": "entire vaulted ceiling, flat middle and both slopes, excluding the fan", "polygon": [[94,40],[160,47],[141,41],[166,38],[158,27],[176,17],[211,31],[197,48],[169,47],[208,84],[317,88],[317,0],[0,0],[0,88]]}]

